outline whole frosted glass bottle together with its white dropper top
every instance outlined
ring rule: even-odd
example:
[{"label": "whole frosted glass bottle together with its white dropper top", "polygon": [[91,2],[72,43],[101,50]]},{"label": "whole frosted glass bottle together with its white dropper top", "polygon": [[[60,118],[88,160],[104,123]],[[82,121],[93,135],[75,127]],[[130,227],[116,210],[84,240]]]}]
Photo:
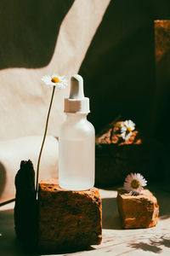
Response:
[{"label": "whole frosted glass bottle together with its white dropper top", "polygon": [[59,186],[85,190],[94,186],[95,131],[87,119],[89,100],[77,94],[83,90],[82,77],[71,79],[71,94],[65,99],[66,119],[59,130]]}]

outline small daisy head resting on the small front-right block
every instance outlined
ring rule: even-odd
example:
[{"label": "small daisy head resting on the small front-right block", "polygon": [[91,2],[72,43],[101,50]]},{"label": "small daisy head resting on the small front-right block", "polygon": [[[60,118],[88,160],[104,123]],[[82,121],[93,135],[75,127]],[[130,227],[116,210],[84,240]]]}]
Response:
[{"label": "small daisy head resting on the small front-right block", "polygon": [[130,194],[140,194],[143,187],[146,186],[147,181],[139,173],[128,174],[125,178],[123,189],[127,190]]}]

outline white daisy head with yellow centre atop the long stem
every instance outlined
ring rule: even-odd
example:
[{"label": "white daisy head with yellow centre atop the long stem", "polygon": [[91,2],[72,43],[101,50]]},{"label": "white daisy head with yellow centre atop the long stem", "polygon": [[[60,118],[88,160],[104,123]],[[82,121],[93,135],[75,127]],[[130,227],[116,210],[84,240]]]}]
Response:
[{"label": "white daisy head with yellow centre atop the long stem", "polygon": [[65,79],[65,76],[59,76],[56,73],[54,73],[52,76],[43,76],[42,81],[45,84],[55,86],[58,89],[65,89],[65,87],[68,85],[68,81]]}]

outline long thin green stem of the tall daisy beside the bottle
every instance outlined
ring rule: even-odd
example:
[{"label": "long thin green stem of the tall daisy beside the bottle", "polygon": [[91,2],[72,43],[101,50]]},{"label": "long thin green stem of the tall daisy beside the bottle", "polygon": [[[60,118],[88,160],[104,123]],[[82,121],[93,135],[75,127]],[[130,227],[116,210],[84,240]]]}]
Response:
[{"label": "long thin green stem of the tall daisy beside the bottle", "polygon": [[37,198],[37,192],[38,192],[38,177],[39,177],[40,160],[41,160],[41,156],[42,156],[43,145],[45,143],[45,138],[46,138],[47,131],[48,131],[48,120],[49,120],[49,114],[50,114],[52,103],[53,103],[53,99],[54,99],[54,91],[55,91],[55,86],[53,88],[53,92],[52,92],[52,96],[51,96],[51,102],[50,102],[49,108],[48,108],[48,117],[47,117],[47,120],[46,120],[45,131],[44,131],[43,140],[42,140],[42,147],[40,149],[40,154],[39,154],[38,161],[37,161],[36,198]]}]

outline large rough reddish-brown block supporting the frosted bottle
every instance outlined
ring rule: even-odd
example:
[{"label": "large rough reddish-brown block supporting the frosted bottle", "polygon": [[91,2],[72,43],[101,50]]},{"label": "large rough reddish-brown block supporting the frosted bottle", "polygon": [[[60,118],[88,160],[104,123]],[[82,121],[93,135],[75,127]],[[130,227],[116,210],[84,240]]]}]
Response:
[{"label": "large rough reddish-brown block supporting the frosted bottle", "polygon": [[61,189],[57,179],[41,181],[38,191],[38,249],[57,252],[97,245],[102,240],[102,207],[96,188]]}]

